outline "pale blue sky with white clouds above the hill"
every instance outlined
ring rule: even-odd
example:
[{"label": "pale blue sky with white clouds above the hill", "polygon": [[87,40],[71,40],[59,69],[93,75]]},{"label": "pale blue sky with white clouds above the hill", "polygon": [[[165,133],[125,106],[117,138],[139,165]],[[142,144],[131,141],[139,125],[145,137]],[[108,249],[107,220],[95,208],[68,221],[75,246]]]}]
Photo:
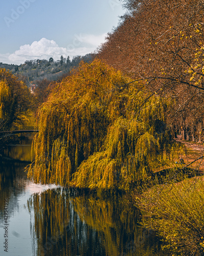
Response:
[{"label": "pale blue sky with white clouds above the hill", "polygon": [[119,0],[2,1],[0,62],[93,52],[123,13]]}]

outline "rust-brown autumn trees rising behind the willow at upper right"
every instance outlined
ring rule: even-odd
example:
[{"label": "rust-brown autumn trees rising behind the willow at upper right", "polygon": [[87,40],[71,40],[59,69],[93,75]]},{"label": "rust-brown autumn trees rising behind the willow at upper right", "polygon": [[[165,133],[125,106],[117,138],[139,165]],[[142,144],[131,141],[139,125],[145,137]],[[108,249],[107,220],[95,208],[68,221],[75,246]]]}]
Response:
[{"label": "rust-brown autumn trees rising behind the willow at upper right", "polygon": [[[184,139],[195,138],[199,124],[203,127],[203,1],[123,3],[127,12],[98,56],[133,79],[145,80],[153,94],[171,97],[174,104],[166,116],[172,134],[177,127]],[[192,100],[199,104],[199,115],[191,113]]]}]

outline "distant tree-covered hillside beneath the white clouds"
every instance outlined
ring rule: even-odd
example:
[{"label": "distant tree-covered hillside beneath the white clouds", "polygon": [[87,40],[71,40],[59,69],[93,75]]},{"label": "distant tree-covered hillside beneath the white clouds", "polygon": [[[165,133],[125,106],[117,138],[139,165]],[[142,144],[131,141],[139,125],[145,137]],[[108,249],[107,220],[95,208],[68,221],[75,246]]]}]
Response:
[{"label": "distant tree-covered hillside beneath the white clouds", "polygon": [[58,80],[61,76],[68,73],[72,68],[78,67],[81,60],[90,62],[94,54],[85,56],[75,56],[70,60],[69,56],[55,61],[53,58],[27,60],[21,65],[0,63],[0,68],[9,69],[14,75],[21,77],[27,86],[31,86],[36,80],[48,79],[50,81]]}]

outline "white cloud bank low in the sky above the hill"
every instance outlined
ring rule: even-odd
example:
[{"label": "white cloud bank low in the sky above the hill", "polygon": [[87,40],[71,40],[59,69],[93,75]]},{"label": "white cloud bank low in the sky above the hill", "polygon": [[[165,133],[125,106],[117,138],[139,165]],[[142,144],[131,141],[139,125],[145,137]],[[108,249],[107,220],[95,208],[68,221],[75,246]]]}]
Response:
[{"label": "white cloud bank low in the sky above the hill", "polygon": [[12,54],[0,54],[0,62],[21,64],[25,60],[31,59],[49,59],[53,57],[55,60],[60,59],[63,55],[68,55],[72,58],[75,55],[85,55],[93,52],[97,46],[105,41],[106,34],[103,35],[74,35],[71,44],[67,48],[58,46],[54,40],[42,38],[39,41],[34,41],[31,45],[20,46]]}]

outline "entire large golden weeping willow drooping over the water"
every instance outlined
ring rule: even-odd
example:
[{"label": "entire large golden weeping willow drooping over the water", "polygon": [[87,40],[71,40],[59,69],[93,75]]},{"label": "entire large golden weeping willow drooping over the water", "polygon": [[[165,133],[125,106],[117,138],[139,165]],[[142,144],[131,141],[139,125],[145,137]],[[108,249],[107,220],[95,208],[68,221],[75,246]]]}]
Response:
[{"label": "entire large golden weeping willow drooping over the water", "polygon": [[81,62],[38,110],[29,177],[122,189],[147,179],[170,157],[171,147],[164,118],[168,102],[149,97],[144,88],[100,60]]}]

